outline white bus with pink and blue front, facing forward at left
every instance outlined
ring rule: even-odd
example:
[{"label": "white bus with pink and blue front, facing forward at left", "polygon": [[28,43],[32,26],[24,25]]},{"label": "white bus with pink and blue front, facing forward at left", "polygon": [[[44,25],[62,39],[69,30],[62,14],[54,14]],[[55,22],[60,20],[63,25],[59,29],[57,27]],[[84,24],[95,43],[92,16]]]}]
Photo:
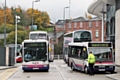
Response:
[{"label": "white bus with pink and blue front, facing forward at left", "polygon": [[[46,70],[49,71],[49,52],[47,40],[24,40],[22,42],[23,71]],[[29,57],[26,56],[29,54]]]}]

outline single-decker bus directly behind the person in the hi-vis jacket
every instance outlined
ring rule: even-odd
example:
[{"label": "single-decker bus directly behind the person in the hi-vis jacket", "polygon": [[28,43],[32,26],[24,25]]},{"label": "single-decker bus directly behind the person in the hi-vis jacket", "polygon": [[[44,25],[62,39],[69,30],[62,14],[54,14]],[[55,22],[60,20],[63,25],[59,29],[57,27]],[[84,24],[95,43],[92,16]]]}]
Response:
[{"label": "single-decker bus directly behind the person in the hi-vis jacket", "polygon": [[114,73],[115,63],[111,42],[80,42],[68,44],[68,66],[72,70],[81,70],[89,73],[87,57],[92,52],[96,57],[94,71]]}]

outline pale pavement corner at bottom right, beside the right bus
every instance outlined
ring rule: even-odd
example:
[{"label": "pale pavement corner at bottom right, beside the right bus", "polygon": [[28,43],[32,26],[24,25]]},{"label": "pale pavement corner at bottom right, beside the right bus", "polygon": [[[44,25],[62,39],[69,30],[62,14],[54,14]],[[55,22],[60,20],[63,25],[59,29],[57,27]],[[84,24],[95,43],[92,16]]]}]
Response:
[{"label": "pale pavement corner at bottom right, beside the right bus", "polygon": [[106,75],[107,78],[111,80],[120,80],[120,67],[116,67],[116,73]]}]

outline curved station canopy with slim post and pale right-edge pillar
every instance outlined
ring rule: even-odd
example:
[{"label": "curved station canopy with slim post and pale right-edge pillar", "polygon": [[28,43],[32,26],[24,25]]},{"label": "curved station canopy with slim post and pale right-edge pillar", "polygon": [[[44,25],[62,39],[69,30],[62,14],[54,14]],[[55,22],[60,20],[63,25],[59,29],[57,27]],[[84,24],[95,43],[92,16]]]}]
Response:
[{"label": "curved station canopy with slim post and pale right-edge pillar", "polygon": [[[107,4],[115,6],[115,64],[120,66],[120,0],[94,0],[88,7],[88,13],[101,17],[102,24],[104,24],[107,16]],[[104,31],[102,34],[104,34]]]}]

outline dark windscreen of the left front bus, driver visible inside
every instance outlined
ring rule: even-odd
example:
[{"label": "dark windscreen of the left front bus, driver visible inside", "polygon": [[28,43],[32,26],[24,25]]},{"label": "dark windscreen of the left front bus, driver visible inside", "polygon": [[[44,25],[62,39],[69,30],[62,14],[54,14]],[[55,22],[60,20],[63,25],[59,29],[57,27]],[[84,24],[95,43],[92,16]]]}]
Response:
[{"label": "dark windscreen of the left front bus, driver visible inside", "polygon": [[40,46],[40,45],[37,43],[35,46],[31,46],[30,44],[24,47],[24,61],[28,62],[28,61],[47,60],[47,48],[46,46]]}]

